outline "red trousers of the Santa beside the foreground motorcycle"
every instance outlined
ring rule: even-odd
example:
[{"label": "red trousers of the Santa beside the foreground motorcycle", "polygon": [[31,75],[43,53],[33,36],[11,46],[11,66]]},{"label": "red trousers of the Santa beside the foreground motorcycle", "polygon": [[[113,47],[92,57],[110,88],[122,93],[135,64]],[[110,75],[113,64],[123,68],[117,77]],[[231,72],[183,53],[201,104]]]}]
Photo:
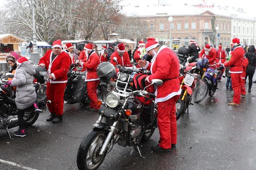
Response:
[{"label": "red trousers of the Santa beside the foreground motorcycle", "polygon": [[179,97],[180,95],[177,95],[167,101],[157,103],[159,146],[163,149],[170,149],[171,144],[177,142],[176,101]]}]

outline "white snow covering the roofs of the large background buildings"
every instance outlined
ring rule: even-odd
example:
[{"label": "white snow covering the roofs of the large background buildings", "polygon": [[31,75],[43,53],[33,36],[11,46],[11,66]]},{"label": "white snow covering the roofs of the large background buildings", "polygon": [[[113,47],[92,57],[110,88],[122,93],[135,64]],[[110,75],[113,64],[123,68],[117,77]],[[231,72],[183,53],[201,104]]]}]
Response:
[{"label": "white snow covering the roofs of the large background buildings", "polygon": [[[203,5],[204,6],[204,5]],[[215,15],[226,16],[226,17],[234,17],[243,18],[243,19],[254,19],[255,15],[249,14],[248,11],[245,12],[241,8],[233,8],[233,7],[221,7],[215,5],[208,6],[200,6],[200,5],[166,5],[166,6],[157,6],[157,5],[147,5],[147,4],[139,4],[139,5],[127,5],[123,6],[122,13],[132,16],[167,16],[167,15],[200,15],[205,11],[210,11]]]}]

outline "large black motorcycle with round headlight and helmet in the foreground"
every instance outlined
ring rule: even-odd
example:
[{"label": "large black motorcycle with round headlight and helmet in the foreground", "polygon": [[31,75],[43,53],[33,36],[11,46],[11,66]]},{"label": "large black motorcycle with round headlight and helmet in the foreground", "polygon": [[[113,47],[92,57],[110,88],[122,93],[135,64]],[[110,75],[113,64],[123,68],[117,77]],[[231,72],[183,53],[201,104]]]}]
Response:
[{"label": "large black motorcycle with round headlight and helmet in the foreground", "polygon": [[[109,81],[115,76],[115,67],[111,65],[99,65],[100,71],[97,69],[97,74],[102,81]],[[149,140],[157,127],[157,110],[154,100],[150,98],[155,97],[155,94],[145,89],[152,85],[162,85],[163,81],[154,79],[144,89],[134,90],[133,75],[134,70],[119,68],[115,89],[106,95],[99,110],[98,121],[80,144],[76,161],[78,169],[98,169],[116,143],[122,147],[135,147],[142,157],[139,145],[141,141]],[[139,97],[148,98],[151,104],[143,104],[138,100]]]}]

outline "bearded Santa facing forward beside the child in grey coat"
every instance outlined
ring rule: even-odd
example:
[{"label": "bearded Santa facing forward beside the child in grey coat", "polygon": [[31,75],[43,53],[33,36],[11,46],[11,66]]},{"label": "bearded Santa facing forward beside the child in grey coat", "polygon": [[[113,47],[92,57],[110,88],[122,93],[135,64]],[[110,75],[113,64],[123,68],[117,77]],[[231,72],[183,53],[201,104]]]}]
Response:
[{"label": "bearded Santa facing forward beside the child in grey coat", "polygon": [[47,104],[51,115],[46,121],[61,122],[63,121],[63,98],[70,57],[68,53],[62,51],[60,39],[53,42],[52,50],[46,51],[46,54],[39,60],[39,66],[45,67],[49,74],[46,96],[47,100],[51,101],[51,104]]}]

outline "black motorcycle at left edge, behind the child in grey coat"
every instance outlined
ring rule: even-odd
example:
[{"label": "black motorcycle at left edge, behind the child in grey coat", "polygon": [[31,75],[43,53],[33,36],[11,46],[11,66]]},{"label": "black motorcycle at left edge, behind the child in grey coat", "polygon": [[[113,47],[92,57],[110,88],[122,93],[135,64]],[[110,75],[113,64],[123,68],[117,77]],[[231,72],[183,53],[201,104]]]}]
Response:
[{"label": "black motorcycle at left edge, behind the child in grey coat", "polygon": [[[33,86],[37,94],[36,103],[40,110],[44,110],[46,109],[46,104],[51,103],[50,100],[46,101],[45,82],[48,79],[47,71],[41,67],[36,67],[35,69],[37,82],[33,83]],[[1,75],[0,77],[0,130],[6,130],[10,139],[12,139],[9,129],[19,126],[19,120],[15,104],[15,87],[7,84],[8,77],[13,78],[14,75],[6,73],[6,75]],[[8,85],[8,87],[4,87],[4,85]],[[39,113],[35,112],[35,108],[27,108],[24,114],[26,127],[33,125],[38,116]]]}]

